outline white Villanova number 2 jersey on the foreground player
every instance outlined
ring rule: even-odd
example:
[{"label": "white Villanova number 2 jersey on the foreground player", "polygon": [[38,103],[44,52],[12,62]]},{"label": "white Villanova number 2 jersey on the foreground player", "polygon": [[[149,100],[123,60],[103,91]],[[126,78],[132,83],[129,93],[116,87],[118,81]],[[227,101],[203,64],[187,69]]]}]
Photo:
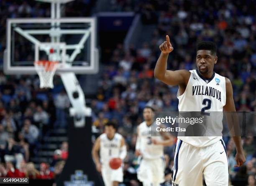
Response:
[{"label": "white Villanova number 2 jersey on the foreground player", "polygon": [[204,112],[205,119],[209,121],[205,127],[213,132],[209,136],[179,136],[178,134],[178,138],[192,146],[209,146],[222,138],[222,111],[226,104],[225,77],[213,72],[212,77],[207,79],[202,77],[198,70],[189,71],[191,75],[186,90],[182,95],[179,95],[179,91],[177,93],[179,112]]}]

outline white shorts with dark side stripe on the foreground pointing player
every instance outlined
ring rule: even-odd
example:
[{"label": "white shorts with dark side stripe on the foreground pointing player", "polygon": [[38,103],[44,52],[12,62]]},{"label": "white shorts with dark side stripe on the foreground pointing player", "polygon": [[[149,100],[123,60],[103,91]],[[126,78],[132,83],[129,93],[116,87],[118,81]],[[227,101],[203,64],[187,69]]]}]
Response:
[{"label": "white shorts with dark side stripe on the foreground pointing player", "polygon": [[221,139],[206,147],[195,147],[178,139],[174,155],[173,186],[228,186],[228,156]]}]

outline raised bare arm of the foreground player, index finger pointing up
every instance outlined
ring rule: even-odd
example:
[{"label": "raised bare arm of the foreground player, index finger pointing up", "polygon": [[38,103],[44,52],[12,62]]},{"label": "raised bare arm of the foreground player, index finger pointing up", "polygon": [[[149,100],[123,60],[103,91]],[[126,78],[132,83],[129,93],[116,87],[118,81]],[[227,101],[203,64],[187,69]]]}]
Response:
[{"label": "raised bare arm of the foreground player, index finger pointing up", "polygon": [[154,70],[155,78],[161,80],[167,85],[186,86],[190,77],[190,72],[188,70],[167,70],[167,59],[169,53],[171,53],[173,50],[168,35],[166,35],[166,41],[159,46],[159,49],[161,50],[161,54],[156,62],[156,67]]}]

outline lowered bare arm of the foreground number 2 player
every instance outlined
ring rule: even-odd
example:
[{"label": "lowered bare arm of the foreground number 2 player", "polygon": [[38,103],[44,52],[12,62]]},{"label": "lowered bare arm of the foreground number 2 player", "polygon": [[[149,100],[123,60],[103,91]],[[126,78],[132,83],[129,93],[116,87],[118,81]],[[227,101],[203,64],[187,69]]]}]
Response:
[{"label": "lowered bare arm of the foreground number 2 player", "polygon": [[[236,112],[236,108],[235,108],[235,103],[234,103],[234,99],[233,99],[233,88],[232,88],[232,84],[230,82],[230,80],[228,78],[225,78],[226,80],[226,104],[223,107],[224,111],[226,112]],[[236,159],[238,166],[241,166],[244,161],[244,155],[243,155],[243,146],[241,143],[241,136],[240,136],[240,127],[239,127],[239,123],[238,123],[238,116],[236,113],[227,113],[226,114],[226,118],[228,121],[228,127],[230,130],[234,130],[233,131],[233,141],[236,144],[236,151],[239,154],[240,157],[238,157]],[[239,134],[239,136],[237,135]],[[237,155],[236,155],[237,157]],[[239,159],[239,160],[238,160]]]}]

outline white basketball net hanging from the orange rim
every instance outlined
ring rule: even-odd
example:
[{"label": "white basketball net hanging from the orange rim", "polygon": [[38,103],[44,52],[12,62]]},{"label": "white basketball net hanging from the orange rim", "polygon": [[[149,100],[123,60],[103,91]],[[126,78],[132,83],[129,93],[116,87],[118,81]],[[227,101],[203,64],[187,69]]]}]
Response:
[{"label": "white basketball net hanging from the orange rim", "polygon": [[34,65],[40,79],[40,88],[54,88],[53,77],[59,62],[40,60],[36,61]]}]

